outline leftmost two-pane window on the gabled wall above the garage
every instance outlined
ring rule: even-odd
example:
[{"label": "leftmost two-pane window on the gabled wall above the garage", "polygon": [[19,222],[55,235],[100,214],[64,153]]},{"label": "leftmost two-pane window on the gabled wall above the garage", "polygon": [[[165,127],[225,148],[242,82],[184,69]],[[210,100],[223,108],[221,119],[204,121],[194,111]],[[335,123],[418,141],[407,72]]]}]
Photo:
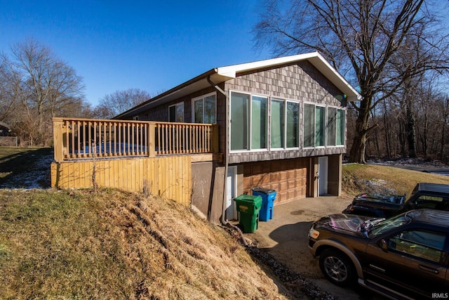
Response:
[{"label": "leftmost two-pane window on the gabled wall above the garage", "polygon": [[268,98],[231,93],[231,150],[267,148]]}]

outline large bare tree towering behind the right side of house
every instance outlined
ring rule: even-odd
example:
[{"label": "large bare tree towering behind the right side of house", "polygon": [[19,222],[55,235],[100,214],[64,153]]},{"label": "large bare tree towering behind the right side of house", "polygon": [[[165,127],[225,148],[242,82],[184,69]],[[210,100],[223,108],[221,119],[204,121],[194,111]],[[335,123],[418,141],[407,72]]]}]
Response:
[{"label": "large bare tree towering behind the right side of house", "polygon": [[[267,1],[255,27],[255,46],[269,46],[275,55],[319,51],[357,86],[362,100],[357,111],[349,158],[365,162],[370,111],[390,97],[407,77],[448,67],[448,37],[424,0],[290,0]],[[426,2],[427,4],[427,2]],[[394,72],[394,56],[406,38],[422,28],[425,56],[407,72]]]}]

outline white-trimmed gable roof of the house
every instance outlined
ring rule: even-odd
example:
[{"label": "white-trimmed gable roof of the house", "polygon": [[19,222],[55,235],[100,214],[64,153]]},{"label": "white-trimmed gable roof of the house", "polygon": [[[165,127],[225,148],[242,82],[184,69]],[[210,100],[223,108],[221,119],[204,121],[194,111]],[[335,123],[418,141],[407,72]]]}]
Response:
[{"label": "white-trimmed gable roof of the house", "polygon": [[337,89],[347,95],[348,101],[356,101],[361,99],[361,95],[335,70],[326,59],[318,52],[298,54],[296,56],[285,56],[282,58],[272,58],[268,60],[259,60],[253,63],[242,63],[239,65],[229,65],[227,67],[215,67],[208,72],[205,72],[189,81],[186,81],[179,86],[175,86],[160,95],[151,98],[144,103],[140,103],[130,110],[121,113],[114,117],[114,119],[121,119],[123,117],[130,117],[130,115],[137,115],[138,113],[148,110],[156,105],[168,103],[171,100],[181,98],[194,93],[201,89],[206,89],[210,86],[210,81],[214,84],[221,84],[229,79],[236,78],[236,74],[240,72],[255,71],[265,69],[267,67],[276,67],[278,65],[285,65],[288,63],[295,63],[302,60],[308,60],[309,63],[314,65],[330,82],[332,82]]}]

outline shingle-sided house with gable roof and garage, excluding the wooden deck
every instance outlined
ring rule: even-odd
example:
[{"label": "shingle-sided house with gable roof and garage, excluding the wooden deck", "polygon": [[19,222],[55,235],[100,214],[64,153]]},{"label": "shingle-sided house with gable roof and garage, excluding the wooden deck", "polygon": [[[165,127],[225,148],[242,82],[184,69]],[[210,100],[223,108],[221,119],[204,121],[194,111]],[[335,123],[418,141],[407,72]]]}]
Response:
[{"label": "shingle-sided house with gable roof and garage, excluding the wooden deck", "polygon": [[214,68],[114,119],[218,124],[222,159],[192,162],[192,205],[217,222],[252,188],[276,190],[274,205],[340,195],[346,107],[360,97],[314,52]]}]

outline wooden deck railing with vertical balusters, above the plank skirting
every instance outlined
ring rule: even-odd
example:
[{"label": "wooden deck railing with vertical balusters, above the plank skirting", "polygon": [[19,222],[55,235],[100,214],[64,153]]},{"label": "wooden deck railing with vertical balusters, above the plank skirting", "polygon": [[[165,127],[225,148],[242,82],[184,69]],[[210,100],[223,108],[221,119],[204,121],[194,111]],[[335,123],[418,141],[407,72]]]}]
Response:
[{"label": "wooden deck railing with vertical balusters, above the plank skirting", "polygon": [[55,161],[218,152],[216,124],[53,118]]}]

